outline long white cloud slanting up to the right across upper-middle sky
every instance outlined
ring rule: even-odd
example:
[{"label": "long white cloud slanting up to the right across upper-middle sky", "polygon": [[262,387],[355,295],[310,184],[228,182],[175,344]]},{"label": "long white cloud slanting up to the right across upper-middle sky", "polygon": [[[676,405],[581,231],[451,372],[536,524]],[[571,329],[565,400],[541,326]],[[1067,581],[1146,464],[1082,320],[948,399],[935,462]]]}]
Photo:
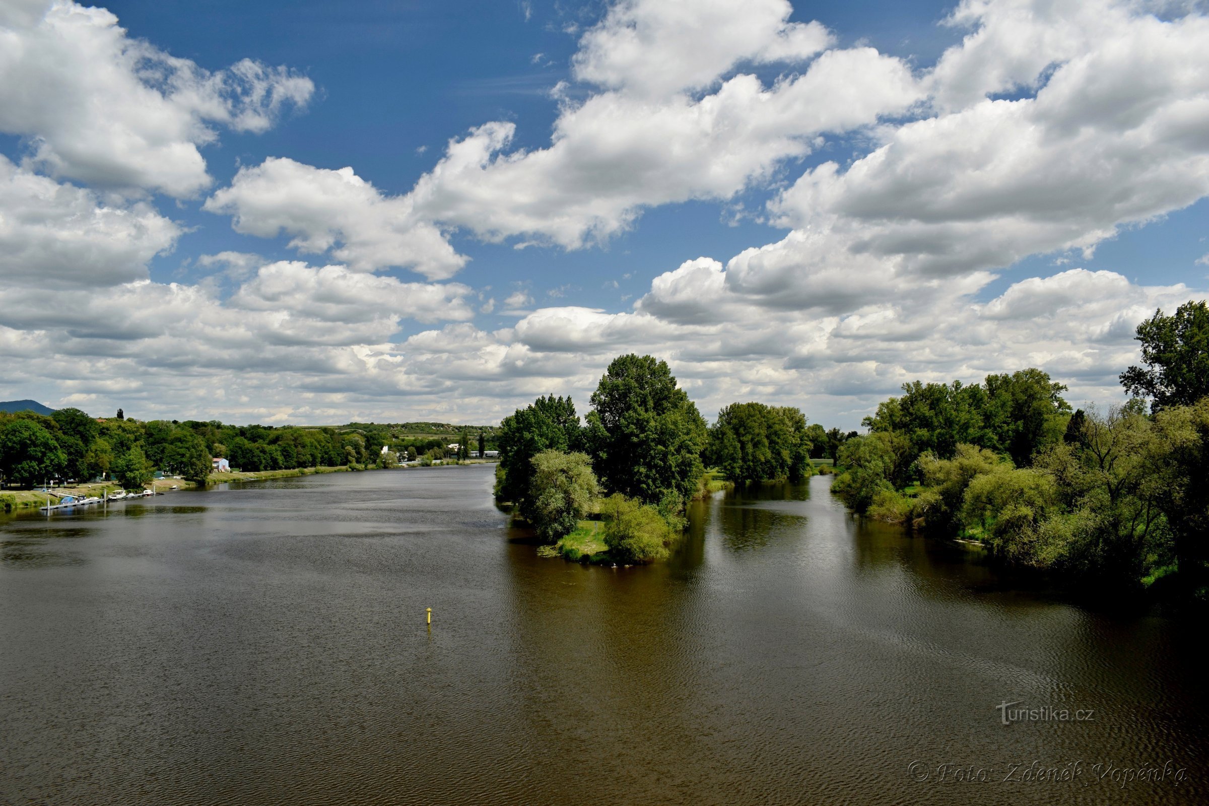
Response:
[{"label": "long white cloud slanting up to the right across upper-middle sky", "polygon": [[737,75],[700,99],[604,92],[565,106],[548,149],[508,152],[510,122],[473,129],[411,197],[422,216],[487,240],[528,234],[579,249],[644,207],[730,198],[809,153],[821,132],[872,124],[920,97],[907,65],[872,48],[829,51],[773,87]]}]

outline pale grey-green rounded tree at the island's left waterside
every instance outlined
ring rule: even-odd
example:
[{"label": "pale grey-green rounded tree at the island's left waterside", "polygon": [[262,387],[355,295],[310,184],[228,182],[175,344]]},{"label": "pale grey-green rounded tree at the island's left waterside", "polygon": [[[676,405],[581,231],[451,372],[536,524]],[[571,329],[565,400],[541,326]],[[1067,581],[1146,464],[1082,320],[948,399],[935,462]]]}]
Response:
[{"label": "pale grey-green rounded tree at the island's left waterside", "polygon": [[600,486],[584,453],[542,451],[532,462],[533,482],[521,514],[545,543],[557,543],[574,530]]}]

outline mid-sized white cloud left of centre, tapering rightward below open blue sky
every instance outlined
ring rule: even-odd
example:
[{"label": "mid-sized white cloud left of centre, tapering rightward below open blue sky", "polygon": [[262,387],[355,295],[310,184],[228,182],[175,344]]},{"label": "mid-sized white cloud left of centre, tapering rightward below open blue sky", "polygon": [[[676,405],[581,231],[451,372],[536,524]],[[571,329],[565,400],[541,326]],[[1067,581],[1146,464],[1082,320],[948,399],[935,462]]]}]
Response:
[{"label": "mid-sized white cloud left of centre, tapering rightward below open blue sky", "polygon": [[352,168],[329,170],[284,157],[241,168],[202,209],[232,216],[236,232],[293,236],[290,247],[329,253],[349,268],[412,268],[429,279],[452,277],[465,257],[413,214],[411,198],[384,196]]}]

